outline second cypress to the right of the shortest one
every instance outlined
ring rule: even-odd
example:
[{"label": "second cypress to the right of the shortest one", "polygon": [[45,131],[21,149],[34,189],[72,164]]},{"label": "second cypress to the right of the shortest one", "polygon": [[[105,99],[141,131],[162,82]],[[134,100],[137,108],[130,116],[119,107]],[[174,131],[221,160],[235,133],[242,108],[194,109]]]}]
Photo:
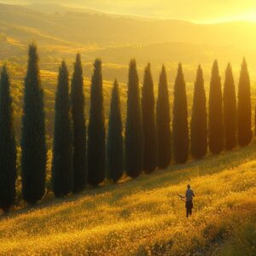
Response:
[{"label": "second cypress to the right of the shortest one", "polygon": [[153,172],[157,167],[157,130],[154,110],[154,84],[150,64],[145,68],[142,90],[144,155],[143,169],[145,173]]}]

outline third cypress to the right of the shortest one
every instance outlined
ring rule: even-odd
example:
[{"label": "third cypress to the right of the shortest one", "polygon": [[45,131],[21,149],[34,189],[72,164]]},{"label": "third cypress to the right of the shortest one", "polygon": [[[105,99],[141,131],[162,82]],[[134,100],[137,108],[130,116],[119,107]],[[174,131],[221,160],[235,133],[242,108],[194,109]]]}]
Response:
[{"label": "third cypress to the right of the shortest one", "polygon": [[166,78],[166,67],[163,65],[156,102],[156,125],[158,138],[158,167],[166,169],[172,159],[171,149],[171,117],[168,84]]}]

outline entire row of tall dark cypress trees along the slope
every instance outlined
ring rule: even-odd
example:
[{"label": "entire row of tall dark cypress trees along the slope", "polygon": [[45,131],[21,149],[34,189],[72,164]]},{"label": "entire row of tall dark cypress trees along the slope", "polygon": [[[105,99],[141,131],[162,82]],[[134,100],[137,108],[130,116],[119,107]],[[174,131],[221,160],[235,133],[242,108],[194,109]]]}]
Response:
[{"label": "entire row of tall dark cypress trees along the slope", "polygon": [[[203,73],[201,67],[198,67],[190,136],[186,85],[181,64],[178,65],[174,85],[172,133],[164,66],[160,72],[158,99],[155,104],[150,65],[144,71],[141,99],[137,64],[135,60],[131,60],[125,137],[119,84],[116,80],[113,83],[106,135],[102,61],[95,61],[91,79],[88,136],[84,116],[83,69],[79,54],[74,63],[71,88],[69,87],[67,65],[62,61],[55,93],[52,160],[52,189],[56,196],[77,193],[84,189],[86,183],[97,186],[106,176],[117,182],[123,176],[124,170],[129,177],[138,177],[143,171],[151,173],[156,168],[165,169],[171,163],[172,148],[174,161],[184,163],[189,159],[189,153],[193,158],[201,159],[207,154],[208,147],[212,154],[219,154],[224,148],[235,148],[236,139],[241,147],[246,146],[252,139],[250,81],[245,60],[241,65],[237,104],[230,64],[226,69],[222,95],[218,62],[214,61],[208,117]],[[3,210],[8,210],[15,203],[16,144],[9,90],[9,75],[4,66],[0,79],[0,134],[4,135],[0,137],[0,207]],[[47,161],[44,92],[35,44],[29,47],[23,109],[22,194],[25,201],[33,204],[44,197]]]}]

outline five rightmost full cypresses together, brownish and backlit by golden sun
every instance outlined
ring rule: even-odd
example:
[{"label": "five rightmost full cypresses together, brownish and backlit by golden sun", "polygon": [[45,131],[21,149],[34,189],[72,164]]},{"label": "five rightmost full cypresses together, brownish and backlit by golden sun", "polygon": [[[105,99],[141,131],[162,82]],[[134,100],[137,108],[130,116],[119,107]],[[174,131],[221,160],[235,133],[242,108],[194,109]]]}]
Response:
[{"label": "five rightmost full cypresses together, brownish and backlit by golden sun", "polygon": [[[207,154],[219,154],[224,149],[230,150],[247,146],[253,137],[251,124],[251,92],[247,62],[241,64],[238,84],[238,102],[236,103],[235,82],[230,63],[226,67],[224,92],[218,71],[218,61],[212,66],[209,105],[207,116],[207,97],[204,88],[202,69],[199,66],[195,79],[194,99],[190,122],[190,153],[194,159],[201,159]],[[173,153],[177,163],[184,163],[189,158],[189,129],[186,91],[182,67],[178,67],[174,88],[173,102]]]}]

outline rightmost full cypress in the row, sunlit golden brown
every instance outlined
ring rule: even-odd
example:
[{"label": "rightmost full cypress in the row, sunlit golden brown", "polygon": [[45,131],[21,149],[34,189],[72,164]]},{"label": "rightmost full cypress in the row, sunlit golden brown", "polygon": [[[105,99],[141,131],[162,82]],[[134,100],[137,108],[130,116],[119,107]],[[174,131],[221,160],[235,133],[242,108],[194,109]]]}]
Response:
[{"label": "rightmost full cypress in the row, sunlit golden brown", "polygon": [[253,137],[251,108],[251,84],[247,70],[247,61],[243,59],[238,86],[237,106],[238,143],[241,147],[247,146]]}]

